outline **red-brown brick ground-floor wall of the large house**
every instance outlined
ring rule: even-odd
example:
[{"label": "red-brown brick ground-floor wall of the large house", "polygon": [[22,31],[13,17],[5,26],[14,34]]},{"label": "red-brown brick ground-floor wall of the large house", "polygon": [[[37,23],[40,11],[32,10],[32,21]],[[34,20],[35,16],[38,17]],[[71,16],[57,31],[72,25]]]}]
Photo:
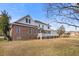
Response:
[{"label": "red-brown brick ground-floor wall of the large house", "polygon": [[[19,28],[19,30],[18,30]],[[38,29],[36,27],[13,25],[11,37],[13,40],[28,40],[37,38]]]}]

